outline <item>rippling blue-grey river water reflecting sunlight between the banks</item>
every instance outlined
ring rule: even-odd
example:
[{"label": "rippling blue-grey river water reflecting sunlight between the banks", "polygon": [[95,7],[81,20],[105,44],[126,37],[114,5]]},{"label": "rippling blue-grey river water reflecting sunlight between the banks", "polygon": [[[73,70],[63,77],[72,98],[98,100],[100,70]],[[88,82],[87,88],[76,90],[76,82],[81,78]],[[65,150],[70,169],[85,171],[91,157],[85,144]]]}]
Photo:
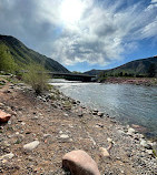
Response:
[{"label": "rippling blue-grey river water reflecting sunlight between the banks", "polygon": [[98,109],[122,124],[144,126],[148,137],[157,137],[157,87],[63,80],[55,80],[52,84],[82,105]]}]

